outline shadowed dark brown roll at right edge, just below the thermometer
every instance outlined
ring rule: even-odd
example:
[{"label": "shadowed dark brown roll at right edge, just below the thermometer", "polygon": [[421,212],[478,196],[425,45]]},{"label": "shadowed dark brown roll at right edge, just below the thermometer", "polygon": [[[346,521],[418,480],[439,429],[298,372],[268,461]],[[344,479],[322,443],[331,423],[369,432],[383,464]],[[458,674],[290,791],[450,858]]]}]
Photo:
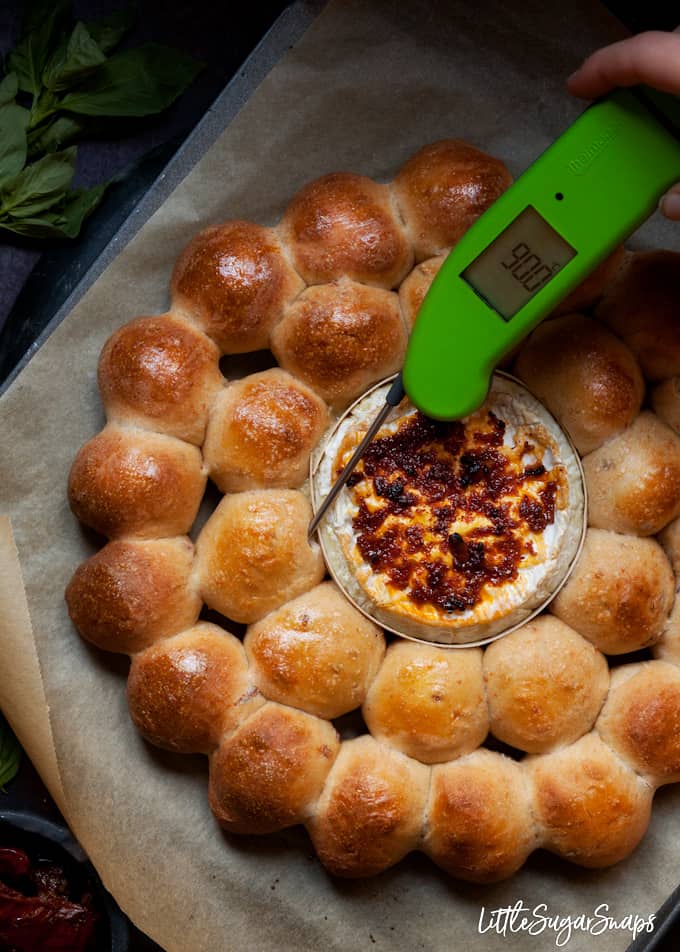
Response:
[{"label": "shadowed dark brown roll at right edge, just below the thermometer", "polygon": [[628,255],[596,313],[628,344],[649,380],[680,374],[680,253]]}]

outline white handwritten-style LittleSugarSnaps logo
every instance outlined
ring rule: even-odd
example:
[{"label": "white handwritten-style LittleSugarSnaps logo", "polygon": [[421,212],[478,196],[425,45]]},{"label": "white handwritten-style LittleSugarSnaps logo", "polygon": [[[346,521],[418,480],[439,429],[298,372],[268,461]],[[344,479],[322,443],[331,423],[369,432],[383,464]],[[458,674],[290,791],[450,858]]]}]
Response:
[{"label": "white handwritten-style LittleSugarSnaps logo", "polygon": [[576,932],[588,935],[602,935],[604,932],[630,932],[631,941],[642,932],[654,931],[656,916],[638,916],[628,913],[621,918],[610,915],[609,905],[600,903],[592,912],[577,916],[565,916],[553,913],[546,903],[539,903],[533,909],[518,899],[514,906],[489,909],[482,906],[477,931],[495,932],[496,935],[509,936],[519,932],[527,935],[551,933],[557,948],[563,948]]}]

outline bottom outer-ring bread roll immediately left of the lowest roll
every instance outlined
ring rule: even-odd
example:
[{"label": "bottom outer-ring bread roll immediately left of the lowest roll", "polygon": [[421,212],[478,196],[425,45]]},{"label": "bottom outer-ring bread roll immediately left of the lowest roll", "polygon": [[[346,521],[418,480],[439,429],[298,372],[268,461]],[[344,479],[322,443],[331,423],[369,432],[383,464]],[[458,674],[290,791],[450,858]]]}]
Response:
[{"label": "bottom outer-ring bread roll immediately left of the lowest roll", "polygon": [[307,823],[326,869],[374,876],[414,850],[429,780],[429,767],[367,734],[344,741]]}]

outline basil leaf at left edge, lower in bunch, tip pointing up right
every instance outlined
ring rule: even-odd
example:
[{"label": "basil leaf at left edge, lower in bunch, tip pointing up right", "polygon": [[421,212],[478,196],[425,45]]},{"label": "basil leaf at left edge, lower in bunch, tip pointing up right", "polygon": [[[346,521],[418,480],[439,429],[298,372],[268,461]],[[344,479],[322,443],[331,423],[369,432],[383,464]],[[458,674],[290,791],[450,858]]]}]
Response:
[{"label": "basil leaf at left edge, lower in bunch, tip pointing up right", "polygon": [[2,209],[15,218],[28,218],[56,205],[64,198],[73,179],[75,157],[75,146],[52,152],[3,182],[0,185]]}]

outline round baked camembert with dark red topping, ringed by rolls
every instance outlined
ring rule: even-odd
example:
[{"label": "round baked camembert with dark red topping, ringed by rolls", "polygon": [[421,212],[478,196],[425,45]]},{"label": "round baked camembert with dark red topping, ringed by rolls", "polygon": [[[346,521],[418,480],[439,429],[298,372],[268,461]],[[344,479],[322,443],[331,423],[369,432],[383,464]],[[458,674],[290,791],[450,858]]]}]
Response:
[{"label": "round baked camembert with dark red topping, ringed by rolls", "polygon": [[[318,505],[385,400],[358,400],[312,464]],[[320,527],[331,574],[390,630],[441,644],[486,641],[526,621],[566,580],[584,531],[576,452],[518,382],[494,375],[464,420],[407,399],[369,445]]]}]

